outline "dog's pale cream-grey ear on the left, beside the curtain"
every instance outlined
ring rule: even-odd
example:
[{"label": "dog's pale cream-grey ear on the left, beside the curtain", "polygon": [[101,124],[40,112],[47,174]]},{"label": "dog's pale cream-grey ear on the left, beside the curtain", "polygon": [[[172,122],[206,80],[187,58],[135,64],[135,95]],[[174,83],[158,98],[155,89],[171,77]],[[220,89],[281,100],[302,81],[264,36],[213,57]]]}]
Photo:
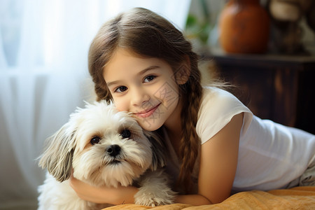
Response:
[{"label": "dog's pale cream-grey ear on the left, beside the curtain", "polygon": [[75,132],[69,129],[69,123],[66,123],[46,140],[45,151],[39,157],[38,165],[48,169],[57,181],[65,181],[71,176]]}]

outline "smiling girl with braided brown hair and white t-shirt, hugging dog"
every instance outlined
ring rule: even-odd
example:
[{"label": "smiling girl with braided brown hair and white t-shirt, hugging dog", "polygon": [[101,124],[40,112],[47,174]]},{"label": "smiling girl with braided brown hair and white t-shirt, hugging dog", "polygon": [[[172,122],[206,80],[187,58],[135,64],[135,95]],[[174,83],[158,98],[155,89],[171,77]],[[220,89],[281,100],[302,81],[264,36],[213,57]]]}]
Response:
[{"label": "smiling girl with braided brown hair and white t-shirt, hugging dog", "polygon": [[[253,116],[229,92],[200,85],[197,55],[159,15],[134,8],[106,22],[89,52],[97,100],[113,100],[145,130],[161,132],[176,202],[214,204],[242,190],[315,185],[315,136]],[[137,188],[94,188],[79,197],[133,203]]]}]

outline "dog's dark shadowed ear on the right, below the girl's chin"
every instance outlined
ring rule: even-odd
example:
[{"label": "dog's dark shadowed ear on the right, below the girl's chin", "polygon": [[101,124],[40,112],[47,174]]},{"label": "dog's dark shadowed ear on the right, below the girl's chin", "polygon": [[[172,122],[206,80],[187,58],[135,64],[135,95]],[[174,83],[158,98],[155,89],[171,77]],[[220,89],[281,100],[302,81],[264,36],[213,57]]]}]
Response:
[{"label": "dog's dark shadowed ear on the right, below the girl's chin", "polygon": [[151,170],[155,171],[161,167],[165,167],[166,157],[165,157],[165,145],[162,138],[157,132],[147,132],[144,131],[145,136],[151,142],[152,149],[152,164]]}]

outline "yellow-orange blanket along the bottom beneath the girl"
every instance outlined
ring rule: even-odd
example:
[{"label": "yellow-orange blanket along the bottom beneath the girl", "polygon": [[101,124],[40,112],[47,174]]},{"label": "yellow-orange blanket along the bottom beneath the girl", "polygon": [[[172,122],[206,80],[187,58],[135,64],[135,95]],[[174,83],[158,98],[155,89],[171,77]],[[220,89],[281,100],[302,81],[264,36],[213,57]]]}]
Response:
[{"label": "yellow-orange blanket along the bottom beneath the girl", "polygon": [[169,209],[169,210],[195,210],[195,209],[315,209],[315,186],[296,187],[287,190],[259,191],[253,190],[241,192],[230,196],[220,204],[195,207],[188,204],[170,204],[160,207],[144,207],[136,204],[122,204],[113,209]]}]

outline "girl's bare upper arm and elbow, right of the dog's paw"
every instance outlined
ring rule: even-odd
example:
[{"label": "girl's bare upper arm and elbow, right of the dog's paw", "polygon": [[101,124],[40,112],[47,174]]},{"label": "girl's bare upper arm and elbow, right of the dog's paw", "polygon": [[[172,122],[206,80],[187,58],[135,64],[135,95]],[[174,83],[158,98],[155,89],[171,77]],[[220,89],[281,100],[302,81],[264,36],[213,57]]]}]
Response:
[{"label": "girl's bare upper arm and elbow, right of the dog's paw", "polygon": [[216,204],[230,196],[237,169],[243,113],[232,118],[214,137],[202,144],[198,195],[179,195],[176,202]]}]

